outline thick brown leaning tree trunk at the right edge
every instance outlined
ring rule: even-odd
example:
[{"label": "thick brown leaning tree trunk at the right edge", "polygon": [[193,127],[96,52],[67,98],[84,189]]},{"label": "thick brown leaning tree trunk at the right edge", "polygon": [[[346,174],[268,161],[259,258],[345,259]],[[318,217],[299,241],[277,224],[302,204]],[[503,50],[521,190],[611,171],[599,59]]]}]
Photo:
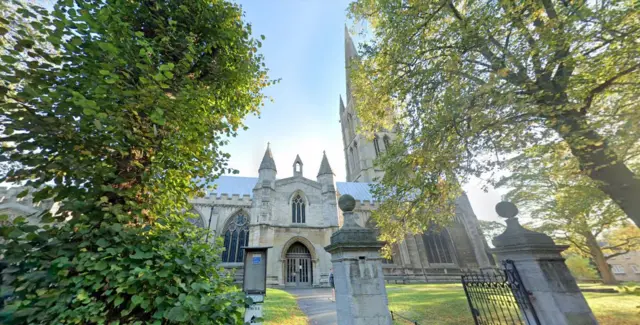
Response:
[{"label": "thick brown leaning tree trunk at the right edge", "polygon": [[587,125],[584,113],[573,110],[547,118],[578,158],[580,170],[596,181],[600,190],[640,227],[640,178],[615,154],[607,141]]}]

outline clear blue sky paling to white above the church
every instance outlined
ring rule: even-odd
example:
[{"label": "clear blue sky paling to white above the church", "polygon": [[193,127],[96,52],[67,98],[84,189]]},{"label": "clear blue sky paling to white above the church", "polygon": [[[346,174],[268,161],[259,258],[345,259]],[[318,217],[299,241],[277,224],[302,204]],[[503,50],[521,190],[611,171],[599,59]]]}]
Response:
[{"label": "clear blue sky paling to white above the church", "polygon": [[[52,0],[37,1],[46,7]],[[293,175],[297,154],[304,175],[315,179],[326,151],[337,181],[345,181],[345,161],[338,116],[338,98],[346,91],[344,26],[349,0],[236,0],[245,11],[256,37],[265,35],[261,53],[269,75],[281,79],[265,93],[260,117],[250,116],[247,131],[231,139],[225,150],[230,166],[241,176],[257,176],[258,166],[271,143],[278,178]],[[357,42],[357,39],[356,39]],[[480,219],[496,219],[500,193],[484,193],[480,182],[466,184],[471,204]]]}]

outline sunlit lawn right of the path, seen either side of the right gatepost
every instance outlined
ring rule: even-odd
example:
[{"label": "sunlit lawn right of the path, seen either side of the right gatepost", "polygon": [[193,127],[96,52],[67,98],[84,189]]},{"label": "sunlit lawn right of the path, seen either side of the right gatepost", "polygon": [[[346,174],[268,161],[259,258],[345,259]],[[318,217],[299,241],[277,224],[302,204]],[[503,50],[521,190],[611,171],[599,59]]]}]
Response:
[{"label": "sunlit lawn right of the path, seen either side of the right gatepost", "polygon": [[[387,285],[389,309],[419,324],[473,324],[461,284]],[[584,293],[601,325],[640,323],[640,296]],[[395,324],[407,324],[398,322]]]}]

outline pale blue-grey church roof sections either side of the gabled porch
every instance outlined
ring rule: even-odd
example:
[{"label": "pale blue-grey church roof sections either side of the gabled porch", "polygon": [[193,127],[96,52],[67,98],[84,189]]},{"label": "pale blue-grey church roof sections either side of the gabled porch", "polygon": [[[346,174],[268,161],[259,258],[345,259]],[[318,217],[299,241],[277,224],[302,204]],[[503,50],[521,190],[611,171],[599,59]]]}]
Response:
[{"label": "pale blue-grey church roof sections either side of the gabled porch", "polygon": [[[220,176],[214,181],[217,188],[211,190],[211,193],[215,193],[216,197],[220,194],[253,197],[253,188],[257,182],[257,177]],[[336,190],[339,195],[350,194],[358,201],[373,201],[369,183],[336,182]]]}]

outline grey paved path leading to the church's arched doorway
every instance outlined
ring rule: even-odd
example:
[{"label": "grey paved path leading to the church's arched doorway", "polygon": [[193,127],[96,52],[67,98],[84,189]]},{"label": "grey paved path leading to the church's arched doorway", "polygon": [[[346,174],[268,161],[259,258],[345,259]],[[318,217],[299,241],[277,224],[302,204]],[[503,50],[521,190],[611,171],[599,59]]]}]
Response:
[{"label": "grey paved path leading to the church's arched doorway", "polygon": [[331,289],[287,289],[296,296],[298,306],[307,315],[310,325],[336,325],[336,303],[331,301]]}]

